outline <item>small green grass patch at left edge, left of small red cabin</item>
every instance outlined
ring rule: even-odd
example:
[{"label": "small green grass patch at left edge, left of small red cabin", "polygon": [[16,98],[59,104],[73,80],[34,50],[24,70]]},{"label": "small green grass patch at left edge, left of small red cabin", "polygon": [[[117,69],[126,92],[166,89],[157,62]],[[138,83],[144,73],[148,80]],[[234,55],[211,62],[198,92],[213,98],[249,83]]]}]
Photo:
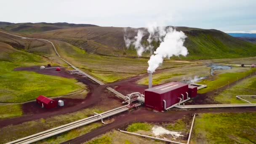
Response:
[{"label": "small green grass patch at left edge, left of small red cabin", "polygon": [[0,105],[0,118],[16,117],[22,113],[21,104]]}]

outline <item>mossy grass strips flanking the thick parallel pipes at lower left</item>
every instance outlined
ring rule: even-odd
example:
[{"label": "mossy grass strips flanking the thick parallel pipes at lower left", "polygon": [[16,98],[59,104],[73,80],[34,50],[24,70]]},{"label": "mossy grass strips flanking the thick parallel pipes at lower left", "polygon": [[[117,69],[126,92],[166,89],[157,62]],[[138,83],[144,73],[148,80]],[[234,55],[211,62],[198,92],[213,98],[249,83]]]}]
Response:
[{"label": "mossy grass strips flanking the thick parallel pipes at lower left", "polygon": [[[57,115],[46,119],[41,118],[39,120],[32,120],[18,125],[8,125],[4,128],[0,128],[0,144],[4,144],[8,141],[13,141],[15,139],[39,133],[41,131],[46,131],[48,129],[55,128],[60,125],[65,125],[76,120],[81,120],[83,118],[88,117],[88,115],[92,115],[93,112],[101,113],[105,110],[106,109],[102,107],[93,107],[73,113],[68,113],[65,115]],[[69,139],[74,139],[75,137],[80,136],[82,134],[88,133],[89,131],[92,131],[94,128],[97,128],[101,125],[103,124],[101,124],[100,122],[85,125],[80,128],[73,129],[72,131],[67,131],[61,135],[50,137],[48,139],[40,141],[40,143],[48,142],[51,144],[59,144]]]}]

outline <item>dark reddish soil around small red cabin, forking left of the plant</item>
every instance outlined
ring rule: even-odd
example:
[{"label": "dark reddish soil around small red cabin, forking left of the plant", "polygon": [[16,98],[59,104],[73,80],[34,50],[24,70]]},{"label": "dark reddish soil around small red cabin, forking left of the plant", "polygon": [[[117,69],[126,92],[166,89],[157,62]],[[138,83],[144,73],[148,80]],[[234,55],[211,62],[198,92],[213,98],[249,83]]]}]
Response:
[{"label": "dark reddish soil around small red cabin, forking left of the plant", "polygon": [[[79,82],[88,85],[89,93],[85,99],[67,99],[67,98],[56,98],[54,100],[63,100],[64,107],[56,107],[53,109],[43,109],[35,101],[31,101],[22,104],[22,110],[24,115],[21,117],[14,117],[0,120],[0,128],[7,125],[17,125],[29,120],[35,120],[40,118],[51,117],[54,115],[61,115],[69,112],[76,112],[80,109],[93,107],[95,105],[101,105],[103,107],[115,108],[120,107],[122,100],[114,96],[113,93],[109,93],[106,87],[107,85],[99,85],[89,78],[83,78],[78,75],[71,75],[68,71],[61,68],[61,71],[55,69],[40,69],[40,67],[19,67],[14,70],[27,70],[33,71],[46,75],[55,75],[67,78],[75,78]],[[109,106],[111,104],[111,106]]]}]

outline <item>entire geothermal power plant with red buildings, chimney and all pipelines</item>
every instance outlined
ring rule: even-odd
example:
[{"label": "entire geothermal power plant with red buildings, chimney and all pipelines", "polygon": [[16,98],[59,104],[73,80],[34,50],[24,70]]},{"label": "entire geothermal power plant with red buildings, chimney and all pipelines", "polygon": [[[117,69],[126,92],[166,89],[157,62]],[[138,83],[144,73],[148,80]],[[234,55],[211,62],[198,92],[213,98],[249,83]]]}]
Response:
[{"label": "entire geothermal power plant with red buildings, chimney and all pipelines", "polygon": [[[6,32],[4,32],[4,33],[6,33]],[[6,34],[8,34],[8,33],[6,33]],[[12,35],[12,34],[8,34],[8,35]],[[12,35],[12,36],[16,36],[16,35]],[[19,37],[22,39],[35,40],[34,38],[27,38],[27,37],[21,37],[21,36],[16,36],[16,37]],[[69,65],[69,68],[74,69],[74,70],[72,70],[72,73],[75,72],[77,75],[83,76],[83,78],[86,77],[88,79],[91,79],[92,81],[96,82],[99,85],[105,85],[104,83],[97,80],[93,76],[88,75],[87,73],[78,69],[74,65],[70,64],[68,61],[61,58],[61,56],[57,52],[57,50],[52,42],[50,42],[48,40],[44,40],[44,39],[36,39],[36,40],[42,40],[42,41],[51,43],[51,45],[53,46],[53,48],[58,56],[50,57],[49,59],[61,59],[67,65]],[[41,70],[49,69],[49,68],[44,68],[44,67],[42,67],[42,68],[43,69],[41,69]],[[61,69],[57,68],[56,71],[61,72]],[[194,109],[195,108],[195,109],[198,109],[198,108],[255,107],[256,106],[256,104],[250,103],[248,101],[247,101],[248,103],[246,103],[246,104],[185,105],[185,102],[187,102],[189,100],[193,101],[193,98],[195,98],[197,96],[197,90],[199,90],[201,88],[205,88],[207,86],[196,84],[196,83],[186,84],[186,83],[180,83],[180,82],[171,82],[171,83],[165,83],[163,85],[157,85],[157,86],[153,87],[152,86],[153,72],[147,71],[147,73],[148,73],[149,85],[148,85],[148,88],[144,90],[144,93],[139,93],[139,92],[134,91],[133,93],[130,93],[130,94],[127,94],[124,96],[122,93],[117,92],[114,88],[111,88],[109,86],[105,87],[107,90],[111,91],[112,93],[115,94],[115,96],[117,96],[119,99],[121,99],[123,101],[122,103],[125,104],[124,106],[117,107],[115,109],[111,109],[111,110],[108,110],[108,111],[102,112],[102,113],[94,112],[93,116],[86,117],[84,119],[77,120],[75,122],[68,123],[65,125],[61,125],[59,127],[52,128],[47,131],[36,133],[31,136],[24,137],[22,139],[17,139],[15,141],[9,142],[8,144],[28,144],[28,143],[40,141],[42,139],[46,139],[48,137],[51,137],[51,136],[54,136],[54,135],[57,135],[57,134],[60,134],[60,133],[66,132],[66,131],[70,131],[74,128],[79,128],[83,125],[88,125],[90,123],[93,123],[93,122],[96,122],[99,120],[101,120],[101,122],[103,124],[107,124],[106,122],[104,122],[105,118],[120,114],[122,112],[126,112],[133,108],[143,107],[143,106],[146,107],[147,110],[151,110],[154,112],[165,112],[171,108],[178,108],[178,109]],[[237,98],[244,100],[243,98],[241,98],[241,96],[237,96]],[[57,102],[52,99],[48,99],[45,96],[39,96],[35,103],[39,104],[43,108],[46,108],[47,110],[51,110],[50,108],[54,109],[58,105],[60,107],[64,106],[63,101]],[[194,121],[194,119],[195,119],[195,115],[194,115],[193,121]],[[193,126],[193,123],[192,123],[192,126]],[[191,126],[190,133],[189,133],[189,139],[190,139],[190,135],[191,135],[191,131],[192,131],[192,126]],[[124,131],[121,131],[121,132],[124,132]],[[125,133],[128,133],[128,132],[125,132]],[[175,142],[175,141],[169,141],[166,139],[154,138],[151,136],[144,136],[141,134],[135,134],[135,133],[129,133],[129,134],[148,137],[150,139],[157,139],[157,140],[161,140],[161,141],[183,144],[183,143],[179,143],[179,142]],[[187,144],[189,144],[189,140],[188,140]]]}]

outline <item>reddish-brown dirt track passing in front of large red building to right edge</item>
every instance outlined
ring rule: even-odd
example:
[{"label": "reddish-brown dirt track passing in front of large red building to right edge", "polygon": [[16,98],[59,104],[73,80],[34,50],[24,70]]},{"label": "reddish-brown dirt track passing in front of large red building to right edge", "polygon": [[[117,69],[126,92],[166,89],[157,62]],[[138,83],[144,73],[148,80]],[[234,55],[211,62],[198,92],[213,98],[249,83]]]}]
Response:
[{"label": "reddish-brown dirt track passing in front of large red building to right edge", "polygon": [[[120,115],[115,115],[115,121],[113,123],[106,124],[97,128],[89,133],[79,136],[75,139],[65,141],[63,144],[81,144],[96,136],[104,134],[112,129],[120,128],[124,130],[129,124],[133,122],[172,122],[182,118],[185,115],[193,115],[195,113],[206,112],[256,112],[255,108],[241,108],[241,109],[198,109],[189,111],[168,111],[168,112],[153,112],[152,110],[140,107],[138,110],[132,112],[125,112]],[[192,120],[192,119],[191,119]]]}]

